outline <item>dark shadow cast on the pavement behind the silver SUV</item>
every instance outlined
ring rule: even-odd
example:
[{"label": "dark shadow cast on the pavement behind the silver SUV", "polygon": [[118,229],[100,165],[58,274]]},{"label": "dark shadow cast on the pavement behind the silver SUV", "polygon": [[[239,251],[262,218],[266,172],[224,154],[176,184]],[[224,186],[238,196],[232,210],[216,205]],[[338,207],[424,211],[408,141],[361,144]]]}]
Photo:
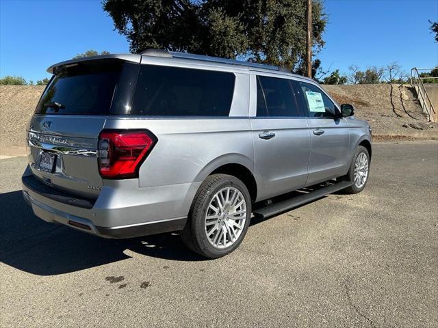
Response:
[{"label": "dark shadow cast on the pavement behind the silver SUV", "polygon": [[35,275],[59,275],[130,258],[129,249],[167,260],[205,260],[187,249],[178,234],[126,240],[105,239],[34,215],[21,191],[0,194],[0,261]]}]

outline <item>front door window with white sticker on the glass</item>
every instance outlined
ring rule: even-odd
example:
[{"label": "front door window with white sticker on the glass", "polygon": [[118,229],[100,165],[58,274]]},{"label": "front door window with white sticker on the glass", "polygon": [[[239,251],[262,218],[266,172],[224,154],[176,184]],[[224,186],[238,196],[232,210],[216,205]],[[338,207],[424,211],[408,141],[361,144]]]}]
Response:
[{"label": "front door window with white sticker on the glass", "polygon": [[335,104],[319,87],[305,82],[298,83],[302,90],[302,98],[307,105],[309,118],[333,118],[335,116]]}]

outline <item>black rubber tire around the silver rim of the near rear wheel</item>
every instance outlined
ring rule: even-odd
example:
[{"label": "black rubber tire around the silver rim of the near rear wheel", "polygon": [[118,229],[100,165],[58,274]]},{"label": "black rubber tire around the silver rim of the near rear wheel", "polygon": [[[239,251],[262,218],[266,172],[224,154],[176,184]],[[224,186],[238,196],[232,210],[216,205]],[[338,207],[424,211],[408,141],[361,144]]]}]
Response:
[{"label": "black rubber tire around the silver rim of the near rear wheel", "polygon": [[[237,240],[229,247],[218,249],[211,245],[205,233],[205,215],[211,199],[224,187],[234,187],[242,193],[246,202],[246,221]],[[240,243],[242,243],[246,231],[248,230],[250,217],[251,200],[245,184],[234,176],[213,174],[203,181],[201,187],[199,187],[196,192],[188,215],[187,224],[181,231],[181,238],[183,239],[183,243],[197,254],[205,256],[206,258],[220,258],[234,251],[239,247]]]}]

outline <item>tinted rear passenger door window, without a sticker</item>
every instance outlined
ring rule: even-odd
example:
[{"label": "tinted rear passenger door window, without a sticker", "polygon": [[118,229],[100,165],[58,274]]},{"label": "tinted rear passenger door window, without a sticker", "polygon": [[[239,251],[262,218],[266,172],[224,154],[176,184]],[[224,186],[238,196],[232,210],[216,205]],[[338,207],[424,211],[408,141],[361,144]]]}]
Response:
[{"label": "tinted rear passenger door window, without a sticker", "polygon": [[257,116],[299,116],[288,79],[257,77]]}]

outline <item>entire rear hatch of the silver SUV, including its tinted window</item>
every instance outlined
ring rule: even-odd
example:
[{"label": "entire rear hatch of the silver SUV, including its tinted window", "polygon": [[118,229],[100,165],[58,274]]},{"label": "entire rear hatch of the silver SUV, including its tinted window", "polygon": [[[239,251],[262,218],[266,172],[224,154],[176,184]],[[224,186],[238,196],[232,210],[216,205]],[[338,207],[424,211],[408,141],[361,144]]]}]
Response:
[{"label": "entire rear hatch of the silver SUV, including its tinted window", "polygon": [[79,197],[99,195],[103,184],[97,159],[99,133],[112,109],[130,106],[138,66],[114,57],[94,57],[50,68],[55,75],[27,130],[34,178]]}]

